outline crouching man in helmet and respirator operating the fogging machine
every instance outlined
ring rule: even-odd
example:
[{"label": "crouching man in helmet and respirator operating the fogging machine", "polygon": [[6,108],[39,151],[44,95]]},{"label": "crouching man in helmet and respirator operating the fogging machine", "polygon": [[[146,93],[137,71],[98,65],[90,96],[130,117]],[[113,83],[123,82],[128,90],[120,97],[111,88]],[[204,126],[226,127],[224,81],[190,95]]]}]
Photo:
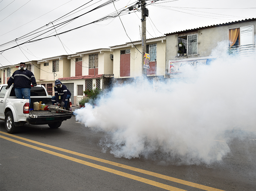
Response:
[{"label": "crouching man in helmet and respirator operating the fogging machine", "polygon": [[67,100],[71,97],[67,86],[62,84],[60,80],[55,80],[54,92],[55,96],[52,97],[52,105],[61,103],[62,107],[67,108]]}]

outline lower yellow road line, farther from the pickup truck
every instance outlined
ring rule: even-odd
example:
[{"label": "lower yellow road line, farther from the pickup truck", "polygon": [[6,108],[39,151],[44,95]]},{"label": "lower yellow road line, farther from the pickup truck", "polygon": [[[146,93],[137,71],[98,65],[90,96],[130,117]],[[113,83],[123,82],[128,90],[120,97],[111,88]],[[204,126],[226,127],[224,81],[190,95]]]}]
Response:
[{"label": "lower yellow road line, farther from the pickup truck", "polygon": [[121,171],[117,171],[117,170],[114,170],[112,168],[107,168],[107,167],[104,167],[104,166],[96,165],[96,164],[93,164],[91,162],[86,162],[86,161],[76,159],[76,158],[73,158],[73,157],[70,157],[70,156],[66,156],[66,155],[63,155],[63,154],[60,154],[60,153],[56,153],[56,152],[53,152],[53,151],[50,151],[50,150],[46,150],[46,149],[43,149],[43,148],[40,148],[40,147],[36,147],[36,146],[30,145],[30,144],[27,144],[27,143],[16,141],[14,139],[4,137],[2,135],[0,135],[0,137],[6,139],[8,141],[12,141],[14,143],[24,145],[26,147],[30,147],[30,148],[33,148],[33,149],[36,149],[36,150],[40,150],[40,151],[45,152],[45,153],[49,153],[49,154],[52,154],[52,155],[55,155],[55,156],[59,156],[59,157],[64,158],[64,159],[68,159],[68,160],[71,160],[71,161],[74,161],[74,162],[78,162],[78,163],[81,163],[83,165],[87,165],[87,166],[90,166],[90,167],[93,167],[93,168],[97,168],[97,169],[100,169],[100,170],[103,170],[103,171],[107,171],[107,172],[110,172],[110,173],[113,173],[113,174],[117,174],[117,175],[120,175],[120,176],[123,176],[123,177],[126,177],[126,178],[137,180],[139,182],[150,184],[152,186],[156,186],[156,187],[163,188],[163,189],[166,189],[166,190],[171,190],[171,191],[186,191],[186,190],[183,190],[183,189],[180,189],[180,188],[169,186],[167,184],[159,183],[159,182],[156,182],[156,181],[153,181],[153,180],[148,180],[146,178],[142,178],[142,177],[135,176],[135,175],[128,174],[128,173],[125,173],[125,172],[121,172]]}]

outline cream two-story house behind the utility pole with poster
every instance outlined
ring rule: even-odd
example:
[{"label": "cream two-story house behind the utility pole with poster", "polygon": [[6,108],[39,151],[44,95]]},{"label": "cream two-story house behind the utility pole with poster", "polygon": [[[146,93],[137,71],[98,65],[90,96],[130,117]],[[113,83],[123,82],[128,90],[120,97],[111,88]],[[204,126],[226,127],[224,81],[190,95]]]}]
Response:
[{"label": "cream two-story house behind the utility pole with poster", "polygon": [[[149,53],[150,69],[147,69],[148,79],[165,76],[165,36],[146,40]],[[119,84],[133,82],[142,76],[142,45],[141,41],[129,42],[110,47],[114,52],[114,81]]]}]

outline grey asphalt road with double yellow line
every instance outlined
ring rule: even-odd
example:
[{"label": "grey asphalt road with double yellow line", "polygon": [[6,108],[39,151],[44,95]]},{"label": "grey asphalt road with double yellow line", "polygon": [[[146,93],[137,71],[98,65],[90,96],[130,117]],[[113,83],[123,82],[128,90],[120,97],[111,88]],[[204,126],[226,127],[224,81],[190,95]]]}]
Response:
[{"label": "grey asphalt road with double yellow line", "polygon": [[16,190],[256,190],[256,136],[241,134],[231,152],[211,165],[173,165],[144,158],[115,158],[98,146],[93,132],[75,117],[60,128],[23,126],[16,134],[0,121],[0,189]]}]

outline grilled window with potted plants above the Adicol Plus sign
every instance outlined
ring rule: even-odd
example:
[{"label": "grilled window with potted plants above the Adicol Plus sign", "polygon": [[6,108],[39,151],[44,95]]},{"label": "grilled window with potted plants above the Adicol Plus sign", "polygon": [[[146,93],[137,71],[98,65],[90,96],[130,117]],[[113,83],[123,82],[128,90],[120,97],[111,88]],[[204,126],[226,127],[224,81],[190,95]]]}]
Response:
[{"label": "grilled window with potted plants above the Adicol Plus sign", "polygon": [[183,54],[197,54],[197,32],[178,36],[177,49]]}]

